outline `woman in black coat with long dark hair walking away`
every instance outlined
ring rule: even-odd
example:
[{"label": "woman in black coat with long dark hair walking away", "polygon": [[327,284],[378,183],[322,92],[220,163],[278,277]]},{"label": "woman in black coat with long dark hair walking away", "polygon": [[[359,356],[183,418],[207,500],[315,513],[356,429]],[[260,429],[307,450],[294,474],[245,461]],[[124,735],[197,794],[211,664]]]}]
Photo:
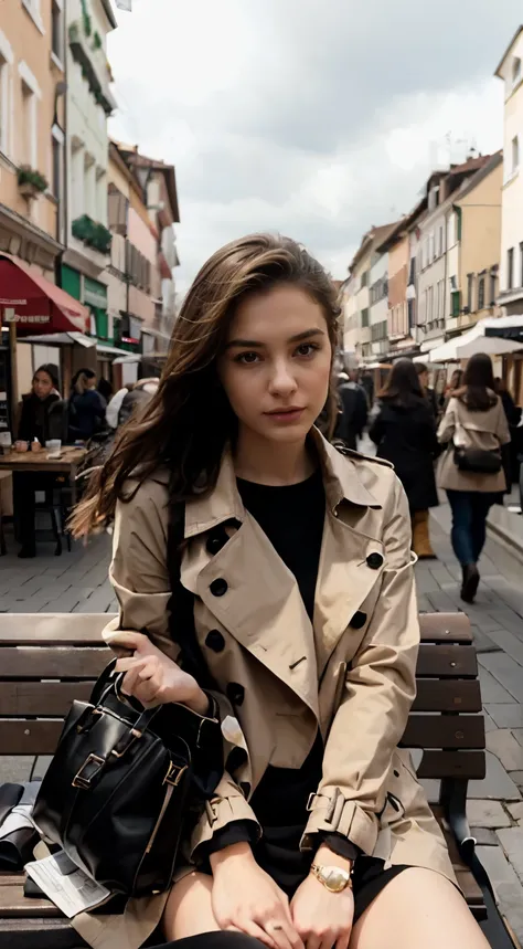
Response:
[{"label": "woman in black coat with long dark hair walking away", "polygon": [[435,558],[428,509],[438,505],[434,462],[439,454],[436,420],[410,359],[394,363],[370,436],[377,456],[392,462],[410,508],[413,549],[421,559]]}]

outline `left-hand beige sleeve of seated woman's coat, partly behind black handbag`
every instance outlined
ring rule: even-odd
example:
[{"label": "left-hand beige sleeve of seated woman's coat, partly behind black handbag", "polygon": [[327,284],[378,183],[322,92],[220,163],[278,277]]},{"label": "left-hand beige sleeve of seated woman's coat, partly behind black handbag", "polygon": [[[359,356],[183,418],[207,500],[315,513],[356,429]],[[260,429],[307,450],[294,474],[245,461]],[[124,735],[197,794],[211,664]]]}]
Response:
[{"label": "left-hand beige sleeve of seated woman's coat, partly behind black handbag", "polygon": [[[136,486],[136,485],[135,485]],[[152,643],[174,662],[180,646],[169,625],[168,604],[171,597],[167,568],[168,496],[166,486],[145,482],[130,502],[118,502],[115,515],[113,561],[109,579],[119,603],[119,614],[103,632],[108,640],[116,630],[147,633]],[[235,718],[227,697],[211,690],[217,703],[220,718]],[[239,728],[239,726],[238,726]],[[224,738],[224,760],[231,751]],[[213,834],[233,821],[249,821],[254,836],[260,835],[258,822],[242,789],[227,770],[207,801],[191,841],[192,858],[199,860],[198,848]]]}]

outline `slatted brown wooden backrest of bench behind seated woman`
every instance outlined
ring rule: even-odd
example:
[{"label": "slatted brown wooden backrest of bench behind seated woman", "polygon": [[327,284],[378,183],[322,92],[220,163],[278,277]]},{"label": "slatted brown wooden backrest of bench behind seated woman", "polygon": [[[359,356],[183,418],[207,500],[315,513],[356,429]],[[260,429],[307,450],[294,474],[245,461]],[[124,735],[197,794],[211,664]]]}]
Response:
[{"label": "slatted brown wooden backrest of bench behind seated woman", "polygon": [[[110,615],[4,613],[0,621],[0,755],[52,755],[74,698],[110,658]],[[420,778],[483,778],[484,720],[465,613],[423,613],[417,698],[402,745],[424,749]]]}]

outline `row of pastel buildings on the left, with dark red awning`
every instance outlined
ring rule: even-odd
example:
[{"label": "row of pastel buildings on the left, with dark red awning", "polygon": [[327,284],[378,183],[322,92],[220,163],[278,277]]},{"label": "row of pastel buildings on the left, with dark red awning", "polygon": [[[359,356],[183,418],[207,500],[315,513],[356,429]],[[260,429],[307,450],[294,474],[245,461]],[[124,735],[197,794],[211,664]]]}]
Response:
[{"label": "row of pastel buildings on the left, with dark red awning", "polygon": [[115,359],[167,350],[175,173],[109,139],[116,28],[110,0],[0,3],[0,428],[43,361],[67,392],[81,367],[119,384],[137,366]]}]

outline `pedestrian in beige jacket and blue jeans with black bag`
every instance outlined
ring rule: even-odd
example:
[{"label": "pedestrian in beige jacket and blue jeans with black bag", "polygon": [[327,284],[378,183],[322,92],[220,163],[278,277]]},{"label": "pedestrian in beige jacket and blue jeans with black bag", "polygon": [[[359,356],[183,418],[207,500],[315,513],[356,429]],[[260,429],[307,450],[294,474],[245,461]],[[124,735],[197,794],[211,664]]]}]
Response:
[{"label": "pedestrian in beige jacket and blue jeans with black bag", "polygon": [[438,439],[446,446],[438,472],[452,510],[452,548],[462,569],[461,598],[472,603],[480,574],[478,561],[487,536],[487,517],[506,489],[502,447],[510,433],[503,403],[494,392],[492,361],[479,352],[469,360],[463,384],[453,392]]}]

